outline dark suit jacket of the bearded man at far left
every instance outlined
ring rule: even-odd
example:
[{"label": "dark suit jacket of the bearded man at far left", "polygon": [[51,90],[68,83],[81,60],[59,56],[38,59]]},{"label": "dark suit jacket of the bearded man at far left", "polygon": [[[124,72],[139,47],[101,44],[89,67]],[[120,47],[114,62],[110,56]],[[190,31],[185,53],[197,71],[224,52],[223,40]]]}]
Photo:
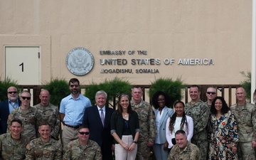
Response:
[{"label": "dark suit jacket of the bearded man at far left", "polygon": [[[21,100],[18,99],[18,106],[21,105]],[[0,102],[0,134],[6,133],[7,119],[9,116],[9,100]]]}]

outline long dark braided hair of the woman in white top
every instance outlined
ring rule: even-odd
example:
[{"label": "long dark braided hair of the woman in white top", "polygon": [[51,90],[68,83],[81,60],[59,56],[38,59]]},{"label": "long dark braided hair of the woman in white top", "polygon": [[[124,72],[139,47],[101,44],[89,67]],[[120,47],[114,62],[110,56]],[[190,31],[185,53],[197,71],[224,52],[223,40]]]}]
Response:
[{"label": "long dark braided hair of the woman in white top", "polygon": [[[177,101],[174,103],[174,108],[175,106],[178,104],[178,103],[181,103],[183,105],[183,107],[185,107],[185,104],[182,102],[182,101]],[[174,132],[174,125],[175,125],[175,122],[176,122],[176,117],[177,117],[177,114],[176,112],[171,116],[171,119],[170,119],[170,124],[169,124],[169,130],[171,131],[171,134]],[[182,119],[181,119],[181,125],[180,125],[180,129],[183,130],[183,127],[184,127],[184,124],[186,124],[186,132],[188,131],[188,121],[186,119],[186,114],[185,112],[183,112],[182,114]]]}]

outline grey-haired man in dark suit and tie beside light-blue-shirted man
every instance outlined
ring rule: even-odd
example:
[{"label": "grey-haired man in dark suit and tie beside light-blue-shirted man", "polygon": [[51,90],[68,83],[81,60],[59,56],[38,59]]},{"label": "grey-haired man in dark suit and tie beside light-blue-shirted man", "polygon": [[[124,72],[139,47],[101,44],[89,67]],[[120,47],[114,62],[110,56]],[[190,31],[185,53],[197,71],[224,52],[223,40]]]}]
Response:
[{"label": "grey-haired man in dark suit and tie beside light-blue-shirted man", "polygon": [[103,90],[96,92],[95,101],[95,106],[85,109],[82,125],[89,128],[89,139],[97,142],[101,147],[102,160],[110,160],[114,150],[114,139],[110,134],[110,117],[114,110],[105,107],[107,93]]}]

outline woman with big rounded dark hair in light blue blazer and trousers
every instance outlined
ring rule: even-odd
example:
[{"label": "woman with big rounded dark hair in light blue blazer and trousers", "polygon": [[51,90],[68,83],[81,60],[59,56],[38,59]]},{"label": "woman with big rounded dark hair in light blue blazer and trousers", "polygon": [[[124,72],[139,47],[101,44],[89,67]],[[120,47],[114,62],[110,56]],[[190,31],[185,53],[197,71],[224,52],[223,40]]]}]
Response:
[{"label": "woman with big rounded dark hair in light blue blazer and trousers", "polygon": [[154,142],[154,155],[156,160],[167,160],[168,142],[166,141],[166,121],[174,114],[171,107],[171,98],[165,92],[158,91],[152,97],[154,113],[156,116],[156,137]]}]

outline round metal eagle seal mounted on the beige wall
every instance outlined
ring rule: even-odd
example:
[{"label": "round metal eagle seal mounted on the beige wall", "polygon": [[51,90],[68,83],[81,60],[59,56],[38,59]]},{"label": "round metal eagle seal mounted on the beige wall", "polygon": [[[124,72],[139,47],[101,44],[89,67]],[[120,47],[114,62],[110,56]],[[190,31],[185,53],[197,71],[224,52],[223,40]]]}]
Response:
[{"label": "round metal eagle seal mounted on the beige wall", "polygon": [[70,50],[66,58],[66,65],[70,73],[74,75],[86,75],[90,73],[94,65],[94,58],[90,50],[77,47]]}]

